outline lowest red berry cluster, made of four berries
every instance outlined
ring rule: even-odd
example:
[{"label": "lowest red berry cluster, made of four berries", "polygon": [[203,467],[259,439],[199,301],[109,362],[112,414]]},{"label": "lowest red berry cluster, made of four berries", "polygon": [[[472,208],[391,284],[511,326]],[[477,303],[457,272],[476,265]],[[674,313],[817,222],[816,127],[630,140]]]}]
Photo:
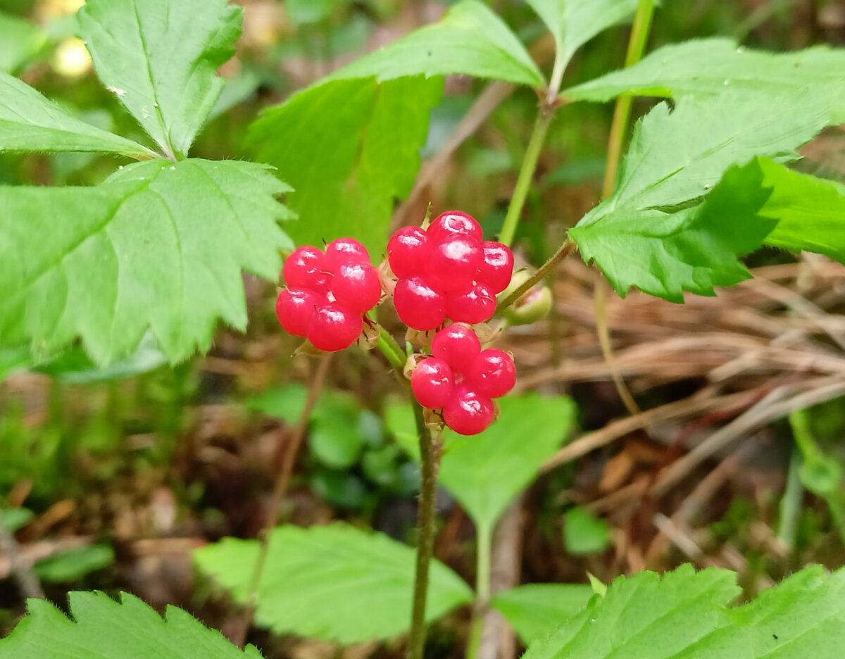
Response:
[{"label": "lowest red berry cluster, made of four berries", "polygon": [[514,360],[495,348],[481,349],[472,328],[453,324],[431,341],[431,357],[411,373],[411,389],[420,405],[443,409],[444,423],[455,433],[481,433],[493,422],[493,398],[507,394],[516,380]]}]

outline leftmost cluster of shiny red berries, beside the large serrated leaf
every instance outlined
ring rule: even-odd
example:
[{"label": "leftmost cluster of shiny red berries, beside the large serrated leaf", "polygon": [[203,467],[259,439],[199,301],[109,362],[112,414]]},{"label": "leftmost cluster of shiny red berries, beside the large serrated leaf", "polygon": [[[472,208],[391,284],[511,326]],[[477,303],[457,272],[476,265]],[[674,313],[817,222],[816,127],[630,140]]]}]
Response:
[{"label": "leftmost cluster of shiny red berries, beside the large serrated leaf", "polygon": [[363,329],[363,313],[381,298],[367,249],[352,238],[330,242],[325,252],[295,249],[283,275],[287,288],[275,302],[281,326],[327,352],[352,346]]}]

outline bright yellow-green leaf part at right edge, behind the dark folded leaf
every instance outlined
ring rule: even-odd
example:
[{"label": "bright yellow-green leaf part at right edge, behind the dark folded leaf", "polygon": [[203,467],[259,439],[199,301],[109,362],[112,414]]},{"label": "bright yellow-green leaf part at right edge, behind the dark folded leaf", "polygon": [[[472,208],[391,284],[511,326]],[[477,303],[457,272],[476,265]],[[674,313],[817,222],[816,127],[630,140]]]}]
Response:
[{"label": "bright yellow-green leaf part at right edge, behind the dark folded leaf", "polygon": [[763,188],[771,196],[760,215],[777,220],[766,237],[772,247],[826,254],[845,263],[845,186],[792,172],[760,159]]}]

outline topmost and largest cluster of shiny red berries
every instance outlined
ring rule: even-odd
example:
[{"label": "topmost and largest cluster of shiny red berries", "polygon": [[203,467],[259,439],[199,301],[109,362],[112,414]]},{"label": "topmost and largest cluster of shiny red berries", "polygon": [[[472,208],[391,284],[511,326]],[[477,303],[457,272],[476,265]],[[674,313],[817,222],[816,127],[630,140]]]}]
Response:
[{"label": "topmost and largest cluster of shiny red berries", "polygon": [[514,255],[500,242],[482,242],[482,230],[458,210],[438,215],[424,231],[406,226],[387,243],[390,270],[398,279],[393,303],[408,327],[428,331],[451,319],[483,323],[496,311],[496,295],[508,286]]}]

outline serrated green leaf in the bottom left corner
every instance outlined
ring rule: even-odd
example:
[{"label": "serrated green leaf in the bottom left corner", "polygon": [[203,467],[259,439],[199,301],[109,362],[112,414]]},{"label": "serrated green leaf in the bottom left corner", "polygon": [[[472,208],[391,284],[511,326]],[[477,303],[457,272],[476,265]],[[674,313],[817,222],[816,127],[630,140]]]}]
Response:
[{"label": "serrated green leaf in the bottom left corner", "polygon": [[162,619],[134,595],[115,602],[103,592],[72,592],[68,617],[46,600],[30,599],[27,616],[0,640],[3,659],[261,659],[252,645],[241,650],[181,608]]}]

